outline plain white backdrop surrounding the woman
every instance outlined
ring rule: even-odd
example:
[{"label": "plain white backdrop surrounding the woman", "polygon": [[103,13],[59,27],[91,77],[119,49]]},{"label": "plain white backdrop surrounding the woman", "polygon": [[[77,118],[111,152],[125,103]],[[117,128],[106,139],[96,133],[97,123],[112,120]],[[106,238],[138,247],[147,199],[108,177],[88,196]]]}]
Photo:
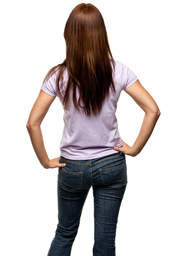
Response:
[{"label": "plain white backdrop surrounding the woman", "polygon": [[[58,168],[44,169],[26,128],[50,68],[65,59],[65,23],[79,1],[8,1],[1,6],[1,255],[47,256],[58,223]],[[116,256],[169,255],[168,1],[92,0],[101,12],[113,58],[127,65],[161,115],[143,150],[126,156],[128,184],[119,212]],[[56,98],[41,128],[49,158],[60,156],[62,105]],[[124,91],[116,116],[132,145],[144,112]],[[92,188],[72,256],[92,256]]]}]

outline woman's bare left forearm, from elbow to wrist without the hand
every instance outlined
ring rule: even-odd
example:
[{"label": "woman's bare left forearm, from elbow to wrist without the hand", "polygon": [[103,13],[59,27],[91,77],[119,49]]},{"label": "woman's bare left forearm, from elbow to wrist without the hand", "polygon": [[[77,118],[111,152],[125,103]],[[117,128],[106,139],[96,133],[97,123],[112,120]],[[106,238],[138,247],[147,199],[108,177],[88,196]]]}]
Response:
[{"label": "woman's bare left forearm, from elbow to wrist without the hand", "polygon": [[30,135],[30,139],[33,145],[33,148],[35,150],[35,153],[40,161],[40,163],[43,165],[43,167],[46,168],[49,162],[49,157],[47,155],[44,141],[43,141],[43,135],[41,131],[40,126],[27,126],[27,130]]}]

